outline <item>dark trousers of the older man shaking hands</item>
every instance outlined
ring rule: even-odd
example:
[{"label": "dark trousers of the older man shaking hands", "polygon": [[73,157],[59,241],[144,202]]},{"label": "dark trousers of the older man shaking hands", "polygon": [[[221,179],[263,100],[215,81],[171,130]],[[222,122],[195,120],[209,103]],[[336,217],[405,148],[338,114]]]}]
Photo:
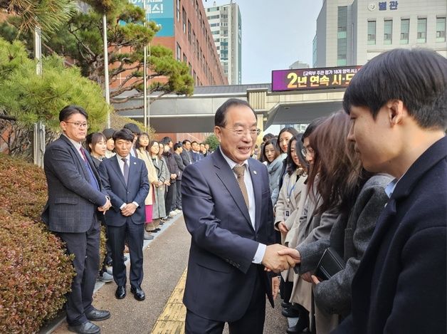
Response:
[{"label": "dark trousers of the older man shaking hands", "polygon": [[[250,304],[241,319],[228,323],[230,334],[262,334],[265,321],[265,288],[263,281],[256,276],[255,288],[251,296]],[[210,291],[219,293],[219,291]],[[221,334],[223,332],[222,321],[202,318],[200,315],[186,310],[186,334]]]}]

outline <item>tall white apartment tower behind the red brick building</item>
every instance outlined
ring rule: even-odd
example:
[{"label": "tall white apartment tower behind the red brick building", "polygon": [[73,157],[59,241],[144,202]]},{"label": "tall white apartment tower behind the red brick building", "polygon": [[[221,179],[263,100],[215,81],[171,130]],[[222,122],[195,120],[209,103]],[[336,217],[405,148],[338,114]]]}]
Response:
[{"label": "tall white apartment tower behind the red brick building", "polygon": [[230,2],[223,6],[206,8],[211,34],[223,66],[223,73],[231,85],[240,85],[241,74],[241,11],[238,4]]}]

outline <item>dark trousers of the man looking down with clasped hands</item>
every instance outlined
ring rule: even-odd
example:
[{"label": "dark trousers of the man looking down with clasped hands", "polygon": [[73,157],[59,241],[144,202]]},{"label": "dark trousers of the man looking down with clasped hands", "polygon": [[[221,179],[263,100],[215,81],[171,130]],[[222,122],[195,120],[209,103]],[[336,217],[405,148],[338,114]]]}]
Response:
[{"label": "dark trousers of the man looking down with clasped hands", "polygon": [[113,279],[117,286],[126,285],[126,266],[124,263],[124,243],[130,251],[130,286],[140,288],[143,281],[143,236],[144,224],[134,224],[127,218],[122,226],[108,226],[110,246],[112,246]]}]

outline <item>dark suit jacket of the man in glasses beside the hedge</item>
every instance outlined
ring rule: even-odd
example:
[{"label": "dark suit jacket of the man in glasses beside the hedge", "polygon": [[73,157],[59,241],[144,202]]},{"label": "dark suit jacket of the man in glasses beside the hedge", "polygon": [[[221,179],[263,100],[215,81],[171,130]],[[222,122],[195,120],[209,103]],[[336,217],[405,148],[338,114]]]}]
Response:
[{"label": "dark suit jacket of the man in glasses beside the hedge", "polygon": [[[101,188],[100,176],[90,155],[86,154],[93,175]],[[48,144],[43,156],[48,184],[48,201],[42,219],[50,231],[83,233],[90,229],[98,207],[105,204],[106,192],[90,185],[90,175],[83,158],[68,137],[61,135]]]}]

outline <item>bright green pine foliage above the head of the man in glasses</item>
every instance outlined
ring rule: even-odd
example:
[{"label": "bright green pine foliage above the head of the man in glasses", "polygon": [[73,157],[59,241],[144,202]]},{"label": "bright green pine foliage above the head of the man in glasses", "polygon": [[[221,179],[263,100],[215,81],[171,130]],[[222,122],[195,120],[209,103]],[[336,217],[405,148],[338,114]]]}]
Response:
[{"label": "bright green pine foliage above the head of the man in glasses", "polygon": [[[3,51],[0,51],[0,59],[1,53]],[[5,63],[9,71],[4,71],[5,75],[0,77],[0,108],[6,114],[30,127],[33,122],[42,120],[51,130],[58,131],[59,111],[65,105],[74,104],[88,111],[91,130],[104,128],[107,104],[98,84],[80,75],[75,66],[65,68],[63,59],[58,56],[44,58],[45,71],[42,76],[37,75],[36,63],[25,58],[23,49],[17,54],[21,55],[16,58],[21,58],[22,63],[15,59]]]}]

